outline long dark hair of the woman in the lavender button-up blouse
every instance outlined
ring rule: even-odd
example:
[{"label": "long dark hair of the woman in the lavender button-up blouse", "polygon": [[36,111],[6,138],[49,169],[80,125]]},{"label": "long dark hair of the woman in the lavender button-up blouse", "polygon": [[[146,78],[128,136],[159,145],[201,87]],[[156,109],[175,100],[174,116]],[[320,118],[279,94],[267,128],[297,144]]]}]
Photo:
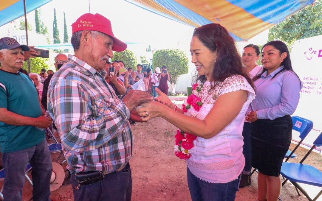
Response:
[{"label": "long dark hair of the woman in the lavender button-up blouse", "polygon": [[[283,68],[283,69],[281,69],[279,72],[277,72],[277,73],[272,77],[272,79],[273,79],[273,78],[275,78],[279,73],[281,73],[281,72],[283,72],[283,71],[285,71],[285,70],[292,71],[292,72],[293,72],[293,73],[298,77],[298,75],[294,72],[294,70],[293,70],[293,68],[292,68],[291,57],[289,56],[289,49],[287,48],[286,44],[285,44],[284,42],[282,42],[282,41],[270,41],[270,42],[266,43],[266,44],[262,47],[261,51],[263,51],[263,48],[264,48],[265,46],[268,46],[268,45],[271,45],[271,46],[273,46],[274,48],[278,49],[278,50],[279,50],[279,54],[282,54],[283,52],[286,52],[286,53],[287,53],[286,58],[285,58],[285,59],[282,61],[282,63],[281,63],[281,66],[282,66],[282,65],[284,65],[284,68]],[[260,78],[260,77],[261,77],[261,74],[263,74],[265,71],[267,71],[267,69],[263,68],[262,72],[261,72],[260,74],[258,74],[257,76],[255,76],[255,77],[253,78],[253,80],[255,81],[255,80],[257,80],[258,78]],[[300,81],[300,85],[301,85],[301,80],[300,80],[300,78],[299,78],[299,77],[298,77],[298,80]]]}]

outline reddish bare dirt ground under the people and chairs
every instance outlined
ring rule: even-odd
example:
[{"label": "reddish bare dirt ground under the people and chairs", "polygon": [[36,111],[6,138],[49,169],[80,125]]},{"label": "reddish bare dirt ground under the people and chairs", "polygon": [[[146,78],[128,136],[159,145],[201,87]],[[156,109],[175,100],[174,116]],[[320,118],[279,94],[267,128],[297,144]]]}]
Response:
[{"label": "reddish bare dirt ground under the people and chairs", "polygon": [[[130,160],[133,178],[132,201],[191,200],[186,181],[186,163],[177,158],[173,151],[176,127],[162,118],[155,118],[148,123],[137,123],[132,126],[132,131],[134,135],[133,158]],[[292,144],[291,149],[293,147]],[[292,159],[292,162],[298,162],[307,151],[299,147],[296,152],[298,158]],[[56,160],[57,156],[58,153],[52,154],[52,160]],[[320,154],[311,153],[305,163],[322,171]],[[64,168],[65,166],[66,163],[63,164]],[[0,186],[2,185],[3,182],[0,183]],[[280,195],[283,201],[307,200],[303,195],[298,196],[290,183],[282,188]],[[31,196],[32,186],[26,182],[23,200],[27,201]],[[51,198],[55,201],[73,200],[71,185],[62,186],[53,191]],[[252,176],[251,186],[244,187],[237,192],[236,201],[248,200],[257,200],[256,173]]]}]

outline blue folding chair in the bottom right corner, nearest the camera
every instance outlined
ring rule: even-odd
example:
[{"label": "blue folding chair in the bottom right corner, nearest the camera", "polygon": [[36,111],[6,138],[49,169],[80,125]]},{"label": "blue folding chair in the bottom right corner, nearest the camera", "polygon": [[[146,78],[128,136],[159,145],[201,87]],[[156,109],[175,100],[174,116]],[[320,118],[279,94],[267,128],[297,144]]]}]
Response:
[{"label": "blue folding chair in the bottom right corner, nearest the camera", "polygon": [[[317,194],[317,196],[315,196],[314,199],[311,199],[308,193],[302,187],[300,187],[298,183],[322,187],[322,172],[311,165],[302,164],[315,147],[322,146],[322,132],[313,142],[313,144],[314,145],[312,146],[312,148],[299,163],[283,162],[281,168],[281,175],[286,178],[282,183],[282,187],[289,180],[310,201],[317,200],[317,198],[322,194],[322,190]],[[299,192],[298,195],[300,196]],[[279,198],[279,200],[281,199]]]}]

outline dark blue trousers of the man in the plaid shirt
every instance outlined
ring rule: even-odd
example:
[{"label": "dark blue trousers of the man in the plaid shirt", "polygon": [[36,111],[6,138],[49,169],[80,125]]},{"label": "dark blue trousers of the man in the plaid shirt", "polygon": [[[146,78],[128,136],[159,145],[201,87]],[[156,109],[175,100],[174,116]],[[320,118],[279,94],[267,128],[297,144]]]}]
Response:
[{"label": "dark blue trousers of the man in the plaid shirt", "polygon": [[79,190],[75,187],[78,182],[75,175],[71,175],[71,186],[75,201],[130,201],[132,196],[132,173],[128,163],[121,171],[104,175],[100,182],[82,186]]}]

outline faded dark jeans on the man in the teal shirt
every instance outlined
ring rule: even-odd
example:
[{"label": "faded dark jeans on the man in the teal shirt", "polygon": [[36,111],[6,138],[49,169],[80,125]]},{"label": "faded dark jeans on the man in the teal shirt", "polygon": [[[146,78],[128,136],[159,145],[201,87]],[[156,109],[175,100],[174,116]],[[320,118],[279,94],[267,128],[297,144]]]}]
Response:
[{"label": "faded dark jeans on the man in the teal shirt", "polygon": [[31,174],[33,178],[33,200],[49,200],[52,160],[46,138],[36,146],[20,151],[2,153],[2,163],[5,168],[4,201],[22,200],[22,189],[26,180],[25,170],[28,163],[33,168]]}]

